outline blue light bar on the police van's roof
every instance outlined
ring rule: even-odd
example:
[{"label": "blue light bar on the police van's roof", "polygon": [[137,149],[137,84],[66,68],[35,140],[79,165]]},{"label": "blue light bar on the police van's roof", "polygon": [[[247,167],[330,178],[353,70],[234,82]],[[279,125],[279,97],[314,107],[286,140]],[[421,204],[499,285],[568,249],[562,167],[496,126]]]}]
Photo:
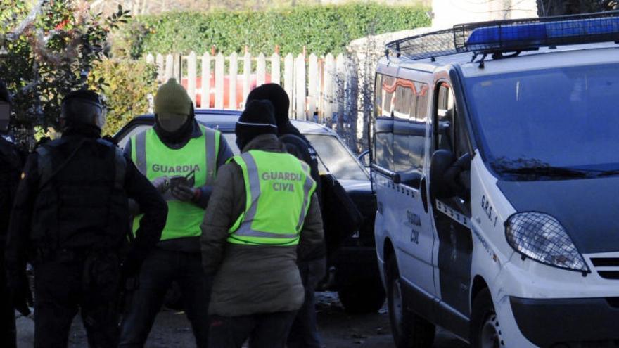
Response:
[{"label": "blue light bar on the police van's roof", "polygon": [[[593,18],[584,20],[563,20],[511,26],[480,27],[471,32],[466,48],[471,51],[504,49],[511,46],[532,48],[548,44],[572,43],[578,38],[586,43],[596,37],[619,35],[619,18]],[[549,42],[550,41],[550,42]]]}]

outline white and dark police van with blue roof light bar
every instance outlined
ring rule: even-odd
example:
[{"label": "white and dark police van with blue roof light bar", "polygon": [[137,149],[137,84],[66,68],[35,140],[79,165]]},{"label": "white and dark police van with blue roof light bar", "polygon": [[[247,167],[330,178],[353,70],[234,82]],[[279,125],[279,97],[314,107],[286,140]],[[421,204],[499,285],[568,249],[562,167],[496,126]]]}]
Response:
[{"label": "white and dark police van with blue roof light bar", "polygon": [[397,347],[619,347],[619,13],[387,45],[370,127]]}]

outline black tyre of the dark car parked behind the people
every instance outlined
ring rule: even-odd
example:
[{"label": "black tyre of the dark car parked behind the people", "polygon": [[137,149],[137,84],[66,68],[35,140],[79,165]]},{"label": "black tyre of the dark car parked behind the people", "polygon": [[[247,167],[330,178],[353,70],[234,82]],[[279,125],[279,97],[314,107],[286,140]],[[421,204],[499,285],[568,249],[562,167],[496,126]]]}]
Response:
[{"label": "black tyre of the dark car parked behind the people", "polygon": [[380,278],[360,278],[338,290],[344,309],[350,314],[376,313],[385,304],[385,289]]}]

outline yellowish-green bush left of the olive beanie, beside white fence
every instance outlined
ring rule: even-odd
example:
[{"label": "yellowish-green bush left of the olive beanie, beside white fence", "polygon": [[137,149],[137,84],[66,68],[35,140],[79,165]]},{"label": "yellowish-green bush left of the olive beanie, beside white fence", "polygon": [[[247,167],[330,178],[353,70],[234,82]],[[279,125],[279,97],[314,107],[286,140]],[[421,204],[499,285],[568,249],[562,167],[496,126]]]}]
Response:
[{"label": "yellowish-green bush left of the olive beanie, beside white fence", "polygon": [[106,82],[98,91],[108,106],[103,134],[113,135],[133,117],[148,112],[148,95],[157,91],[157,70],[140,60],[106,59],[94,66],[91,76],[101,77]]}]

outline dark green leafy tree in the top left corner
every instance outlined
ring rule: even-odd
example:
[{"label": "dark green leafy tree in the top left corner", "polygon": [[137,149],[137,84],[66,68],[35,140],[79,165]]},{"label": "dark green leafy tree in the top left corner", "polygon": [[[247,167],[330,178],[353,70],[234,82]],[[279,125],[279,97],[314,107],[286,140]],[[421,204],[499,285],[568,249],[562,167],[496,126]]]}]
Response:
[{"label": "dark green leafy tree in the top left corner", "polygon": [[[103,18],[89,15],[76,1],[0,0],[0,41],[8,56],[0,60],[0,77],[13,94],[13,125],[55,126],[60,101],[79,88],[100,89],[106,76],[92,70],[109,50],[108,32],[130,18],[118,11]],[[34,17],[29,18],[31,10]],[[20,32],[16,28],[23,27]]]}]

